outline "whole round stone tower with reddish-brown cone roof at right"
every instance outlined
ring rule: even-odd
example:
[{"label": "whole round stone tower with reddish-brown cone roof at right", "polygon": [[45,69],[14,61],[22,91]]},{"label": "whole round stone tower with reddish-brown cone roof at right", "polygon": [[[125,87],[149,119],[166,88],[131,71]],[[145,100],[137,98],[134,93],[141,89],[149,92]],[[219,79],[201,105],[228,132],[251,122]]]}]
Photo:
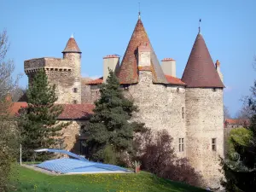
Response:
[{"label": "whole round stone tower with reddish-brown cone roof at right", "polygon": [[183,72],[186,87],[187,157],[207,186],[218,188],[218,155],[224,156],[223,89],[201,32]]}]

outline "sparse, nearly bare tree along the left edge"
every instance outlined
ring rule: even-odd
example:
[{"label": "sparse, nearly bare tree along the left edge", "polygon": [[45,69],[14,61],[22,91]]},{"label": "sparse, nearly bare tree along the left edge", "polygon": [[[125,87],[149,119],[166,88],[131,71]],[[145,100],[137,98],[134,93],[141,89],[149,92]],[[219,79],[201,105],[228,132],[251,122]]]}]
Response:
[{"label": "sparse, nearly bare tree along the left edge", "polygon": [[13,119],[9,118],[11,100],[9,93],[15,89],[18,79],[12,78],[14,62],[6,59],[9,50],[7,32],[0,32],[0,191],[7,191],[11,164],[16,160],[19,132]]}]

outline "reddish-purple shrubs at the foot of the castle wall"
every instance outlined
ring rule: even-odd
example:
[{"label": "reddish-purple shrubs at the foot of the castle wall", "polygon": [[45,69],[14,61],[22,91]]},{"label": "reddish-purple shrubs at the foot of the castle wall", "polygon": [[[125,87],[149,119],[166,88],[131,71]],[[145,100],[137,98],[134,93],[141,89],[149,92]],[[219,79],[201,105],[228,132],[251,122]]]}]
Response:
[{"label": "reddish-purple shrubs at the foot of the castle wall", "polygon": [[189,166],[187,159],[179,159],[172,148],[172,137],[166,130],[152,131],[145,134],[144,148],[138,157],[142,161],[142,168],[156,174],[158,177],[171,179],[173,181],[201,186],[201,175]]}]

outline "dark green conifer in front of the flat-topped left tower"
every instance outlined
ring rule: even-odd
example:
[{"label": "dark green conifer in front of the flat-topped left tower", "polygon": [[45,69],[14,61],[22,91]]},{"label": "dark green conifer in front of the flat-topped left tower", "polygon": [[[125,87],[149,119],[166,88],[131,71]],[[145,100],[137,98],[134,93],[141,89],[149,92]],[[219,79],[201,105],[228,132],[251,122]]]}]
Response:
[{"label": "dark green conifer in front of the flat-topped left tower", "polygon": [[[63,142],[61,130],[68,123],[60,123],[61,105],[55,105],[55,84],[51,86],[43,70],[35,75],[26,91],[28,107],[20,110],[18,125],[22,137],[23,160],[34,159],[34,149],[55,148]],[[37,160],[49,159],[50,154],[38,154]]]}]

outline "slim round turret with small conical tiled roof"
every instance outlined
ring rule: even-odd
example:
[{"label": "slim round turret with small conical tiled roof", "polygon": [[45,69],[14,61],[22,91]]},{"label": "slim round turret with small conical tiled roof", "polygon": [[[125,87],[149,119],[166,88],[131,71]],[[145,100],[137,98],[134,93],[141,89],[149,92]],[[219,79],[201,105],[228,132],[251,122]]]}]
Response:
[{"label": "slim round turret with small conical tiled roof", "polygon": [[[68,39],[65,49],[62,51],[64,65],[71,67],[71,75],[73,76],[73,85],[67,90],[67,96],[69,103],[79,104],[81,103],[81,55],[82,52],[79,49],[76,40],[73,38]],[[67,82],[68,83],[68,82]],[[69,82],[70,83],[70,82]],[[65,82],[63,82],[65,84]],[[71,101],[72,100],[72,101]]]}]

